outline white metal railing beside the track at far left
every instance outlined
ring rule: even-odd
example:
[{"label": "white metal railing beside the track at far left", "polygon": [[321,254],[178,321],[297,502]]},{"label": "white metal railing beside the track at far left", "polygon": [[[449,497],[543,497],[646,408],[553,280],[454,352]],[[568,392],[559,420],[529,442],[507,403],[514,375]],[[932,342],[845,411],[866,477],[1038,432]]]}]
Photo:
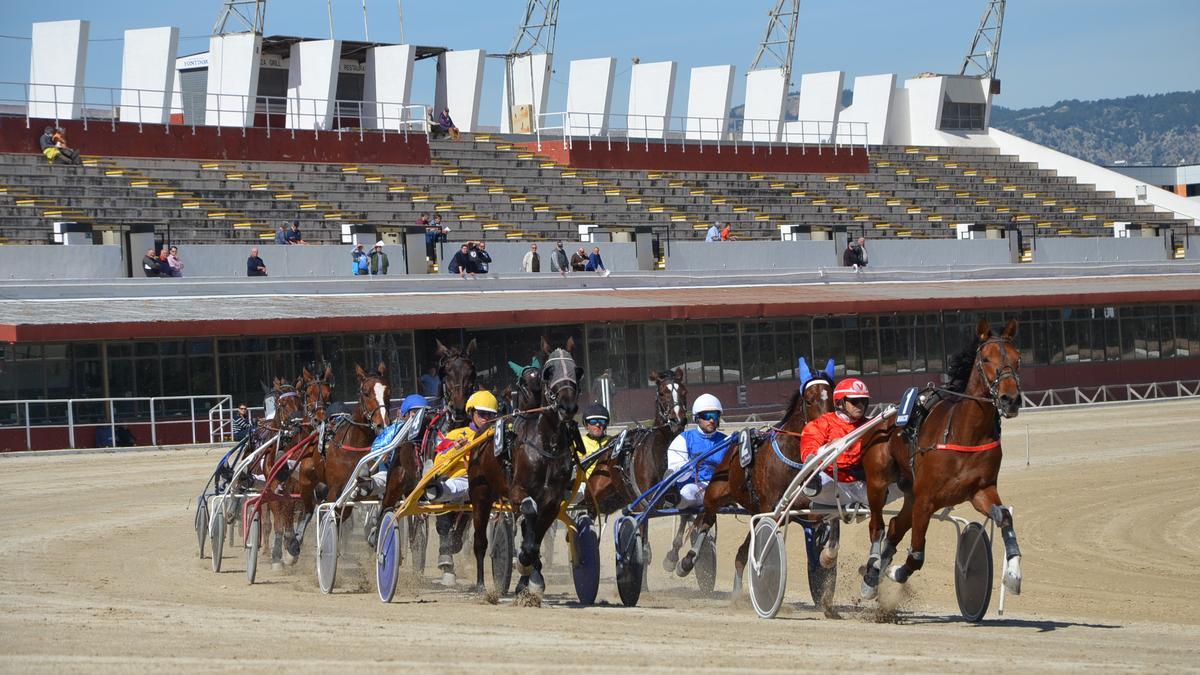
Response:
[{"label": "white metal railing beside the track at far left", "polygon": [[34,434],[46,429],[66,429],[68,447],[76,448],[79,446],[77,431],[108,428],[108,442],[115,447],[118,429],[128,424],[149,424],[151,446],[158,444],[161,428],[181,424],[190,426],[185,438],[191,436],[192,443],[202,442],[198,428],[204,424],[208,424],[209,437],[203,442],[226,441],[233,436],[233,398],[209,394],[0,401],[0,430],[24,429],[25,449],[30,450],[35,449]]}]

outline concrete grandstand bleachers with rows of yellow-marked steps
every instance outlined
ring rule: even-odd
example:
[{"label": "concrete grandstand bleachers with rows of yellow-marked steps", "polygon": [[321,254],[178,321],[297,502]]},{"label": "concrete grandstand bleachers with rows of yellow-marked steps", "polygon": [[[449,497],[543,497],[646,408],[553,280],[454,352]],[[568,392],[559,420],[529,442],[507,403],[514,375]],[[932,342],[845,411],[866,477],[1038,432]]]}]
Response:
[{"label": "concrete grandstand bleachers with rows of yellow-marked steps", "polygon": [[337,243],[341,223],[388,229],[422,211],[442,213],[452,239],[575,239],[580,226],[698,239],[716,221],[740,239],[778,239],[784,225],[944,238],[960,222],[1110,237],[1114,222],[1181,232],[1186,222],[988,148],[875,147],[865,174],[583,169],[485,135],[430,150],[431,166],[97,157],[65,167],[6,154],[0,238],[49,243],[61,220],[247,243],[300,219],[308,241]]}]

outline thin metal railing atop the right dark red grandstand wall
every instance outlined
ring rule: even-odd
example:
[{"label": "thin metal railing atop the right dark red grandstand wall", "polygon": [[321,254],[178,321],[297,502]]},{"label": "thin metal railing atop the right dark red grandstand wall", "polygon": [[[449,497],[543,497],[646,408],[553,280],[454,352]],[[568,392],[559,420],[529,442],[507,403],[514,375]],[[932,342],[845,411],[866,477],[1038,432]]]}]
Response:
[{"label": "thin metal railing atop the right dark red grandstand wall", "polygon": [[[617,125],[617,121],[624,121],[624,126]],[[586,142],[588,149],[594,143],[606,143],[608,149],[613,143],[624,143],[626,149],[634,144],[649,149],[650,143],[666,145],[668,141],[700,141],[715,143],[718,153],[722,148],[736,153],[739,148],[779,147],[788,154],[792,145],[799,145],[800,154],[815,150],[820,155],[829,150],[836,154],[842,148],[866,149],[868,144],[865,121],[780,121],[574,110],[538,114],[534,133],[539,150],[544,136],[556,141],[562,137],[564,149],[572,148],[576,142]]]}]

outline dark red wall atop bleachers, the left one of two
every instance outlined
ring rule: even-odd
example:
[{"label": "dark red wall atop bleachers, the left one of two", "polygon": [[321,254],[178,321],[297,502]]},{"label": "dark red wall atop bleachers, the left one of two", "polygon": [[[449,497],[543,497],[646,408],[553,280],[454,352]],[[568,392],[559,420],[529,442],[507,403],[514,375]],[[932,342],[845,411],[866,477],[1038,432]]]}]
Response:
[{"label": "dark red wall atop bleachers, the left one of two", "polygon": [[[422,133],[408,139],[396,132],[295,131],[215,126],[163,126],[92,120],[84,129],[80,120],[0,117],[0,153],[40,154],[42,129],[58,124],[83,155],[104,157],[169,157],[190,160],[232,160],[271,162],[330,162],[378,165],[428,165],[430,144]],[[245,135],[242,133],[245,131]]]}]

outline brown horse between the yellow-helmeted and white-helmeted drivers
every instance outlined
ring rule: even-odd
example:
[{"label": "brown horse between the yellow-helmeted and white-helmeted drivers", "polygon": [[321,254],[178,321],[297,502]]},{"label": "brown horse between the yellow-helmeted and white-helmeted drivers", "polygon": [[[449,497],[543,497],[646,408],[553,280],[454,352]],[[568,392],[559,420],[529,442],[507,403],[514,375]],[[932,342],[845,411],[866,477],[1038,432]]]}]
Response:
[{"label": "brown horse between the yellow-helmeted and white-helmeted drivers", "polygon": [[625,447],[613,448],[596,460],[588,477],[583,503],[592,515],[607,515],[628,506],[643,490],[662,480],[667,470],[667,446],[688,424],[688,387],[683,370],[650,372],[654,382],[654,426],[629,432]]}]

